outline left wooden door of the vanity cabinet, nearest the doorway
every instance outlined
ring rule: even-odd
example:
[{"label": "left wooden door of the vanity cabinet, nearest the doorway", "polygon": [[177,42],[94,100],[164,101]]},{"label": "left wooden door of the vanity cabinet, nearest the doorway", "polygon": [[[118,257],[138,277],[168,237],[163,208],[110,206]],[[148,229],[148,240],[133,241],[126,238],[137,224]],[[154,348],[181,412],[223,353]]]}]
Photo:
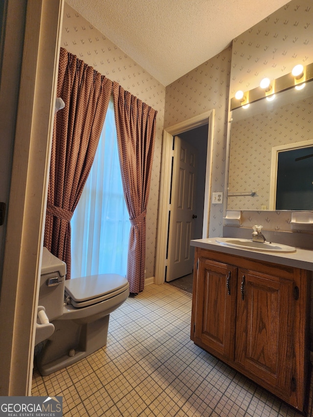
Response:
[{"label": "left wooden door of the vanity cabinet, nearest the doorway", "polygon": [[220,358],[234,359],[237,268],[199,259],[194,341]]}]

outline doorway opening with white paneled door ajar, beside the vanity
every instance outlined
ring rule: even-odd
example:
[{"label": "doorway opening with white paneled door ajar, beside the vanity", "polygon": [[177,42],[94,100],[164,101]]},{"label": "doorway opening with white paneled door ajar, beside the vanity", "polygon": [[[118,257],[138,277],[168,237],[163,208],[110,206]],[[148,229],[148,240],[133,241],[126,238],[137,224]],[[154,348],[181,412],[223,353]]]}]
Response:
[{"label": "doorway opening with white paneled door ajar, beside the vanity", "polygon": [[191,275],[203,229],[208,124],[173,137],[165,281]]}]

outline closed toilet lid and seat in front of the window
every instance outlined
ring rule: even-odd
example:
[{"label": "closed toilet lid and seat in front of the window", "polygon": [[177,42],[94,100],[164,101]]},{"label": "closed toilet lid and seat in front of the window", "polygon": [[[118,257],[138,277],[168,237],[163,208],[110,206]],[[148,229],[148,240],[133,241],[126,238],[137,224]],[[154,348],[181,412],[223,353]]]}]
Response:
[{"label": "closed toilet lid and seat in front of the window", "polygon": [[117,274],[98,274],[65,282],[65,293],[74,307],[86,307],[107,300],[128,288],[126,278]]}]

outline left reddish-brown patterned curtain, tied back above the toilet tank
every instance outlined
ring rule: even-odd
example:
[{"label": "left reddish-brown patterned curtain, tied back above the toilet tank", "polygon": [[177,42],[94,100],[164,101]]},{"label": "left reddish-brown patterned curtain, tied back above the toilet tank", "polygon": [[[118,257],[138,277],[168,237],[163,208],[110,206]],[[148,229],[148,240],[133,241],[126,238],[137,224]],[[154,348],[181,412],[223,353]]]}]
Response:
[{"label": "left reddish-brown patterned curtain, tied back above the toilet tank", "polygon": [[57,97],[65,108],[53,129],[44,245],[67,264],[70,219],[83,191],[108,109],[112,81],[61,48]]}]

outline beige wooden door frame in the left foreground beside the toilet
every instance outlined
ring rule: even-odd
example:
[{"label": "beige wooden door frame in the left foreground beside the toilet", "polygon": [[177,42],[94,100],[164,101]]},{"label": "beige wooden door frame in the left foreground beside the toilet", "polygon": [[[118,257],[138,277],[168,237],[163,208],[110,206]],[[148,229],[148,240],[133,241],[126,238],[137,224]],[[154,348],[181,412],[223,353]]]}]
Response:
[{"label": "beige wooden door frame in the left foreground beside the toilet", "polygon": [[[18,102],[5,113],[16,116],[16,129],[6,138],[14,153],[0,298],[2,396],[31,395],[63,7],[64,0],[8,1],[6,28],[25,31],[22,56],[9,50],[1,68],[1,87],[10,71],[21,76]],[[14,41],[5,37],[4,50]],[[8,67],[11,56],[17,67]]]}]

